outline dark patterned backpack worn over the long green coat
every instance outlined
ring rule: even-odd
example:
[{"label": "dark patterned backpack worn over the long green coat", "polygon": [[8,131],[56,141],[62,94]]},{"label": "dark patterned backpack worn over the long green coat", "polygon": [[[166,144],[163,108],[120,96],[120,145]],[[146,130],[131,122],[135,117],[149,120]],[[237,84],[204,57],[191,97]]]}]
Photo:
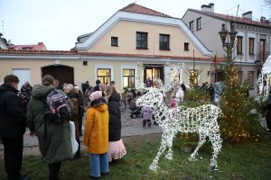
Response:
[{"label": "dark patterned backpack worn over the long green coat", "polygon": [[71,110],[68,97],[61,94],[61,90],[53,89],[46,97],[44,113],[46,121],[70,121]]}]

